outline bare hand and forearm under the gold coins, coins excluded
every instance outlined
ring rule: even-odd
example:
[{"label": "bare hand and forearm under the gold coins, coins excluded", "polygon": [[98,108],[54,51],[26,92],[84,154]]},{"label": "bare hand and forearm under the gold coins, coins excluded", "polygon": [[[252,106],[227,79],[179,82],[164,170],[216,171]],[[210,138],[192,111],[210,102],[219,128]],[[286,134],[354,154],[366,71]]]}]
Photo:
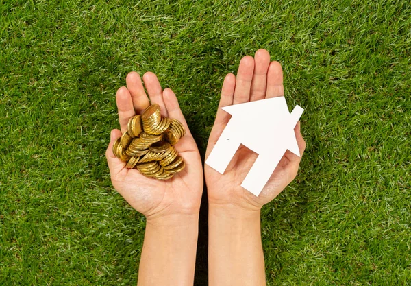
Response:
[{"label": "bare hand and forearm under the gold coins, coins excluded", "polygon": [[[154,73],[145,73],[142,80],[138,73],[129,73],[126,83],[127,87],[116,93],[121,131],[112,130],[105,155],[114,188],[147,218],[138,285],[192,285],[203,191],[199,150],[177,97],[170,88],[162,90]],[[112,152],[114,141],[127,130],[129,118],[141,114],[150,102],[160,105],[162,116],[178,119],[186,128],[186,135],[175,145],[186,168],[170,180],[147,178],[136,169],[127,169]]]}]

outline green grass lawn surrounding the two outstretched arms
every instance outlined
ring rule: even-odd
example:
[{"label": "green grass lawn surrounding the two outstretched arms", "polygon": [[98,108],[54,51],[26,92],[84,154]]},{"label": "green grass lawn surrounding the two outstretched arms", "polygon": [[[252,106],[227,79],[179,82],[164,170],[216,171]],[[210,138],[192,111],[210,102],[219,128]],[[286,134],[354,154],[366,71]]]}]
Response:
[{"label": "green grass lawn surrounding the two outstretched arms", "polygon": [[116,89],[157,73],[204,152],[259,48],[306,109],[299,175],[262,210],[267,284],[411,285],[408,1],[171,2],[0,1],[0,285],[136,285],[145,219],[104,157]]}]

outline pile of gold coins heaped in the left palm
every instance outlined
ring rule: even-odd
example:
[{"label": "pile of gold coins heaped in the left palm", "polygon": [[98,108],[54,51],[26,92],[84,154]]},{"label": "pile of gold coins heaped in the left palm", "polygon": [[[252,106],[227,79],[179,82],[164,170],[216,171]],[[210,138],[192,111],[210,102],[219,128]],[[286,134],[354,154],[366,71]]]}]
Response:
[{"label": "pile of gold coins heaped in the left palm", "polygon": [[142,115],[129,119],[127,131],[114,142],[113,153],[127,162],[125,167],[138,169],[150,178],[167,180],[186,167],[174,147],[184,134],[180,121],[162,117],[160,106],[152,104]]}]

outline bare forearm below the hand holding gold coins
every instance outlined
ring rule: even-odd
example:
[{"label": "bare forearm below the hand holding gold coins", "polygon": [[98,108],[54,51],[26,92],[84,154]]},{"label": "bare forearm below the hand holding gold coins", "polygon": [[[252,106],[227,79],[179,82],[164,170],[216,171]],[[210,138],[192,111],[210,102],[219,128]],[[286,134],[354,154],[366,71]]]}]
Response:
[{"label": "bare forearm below the hand holding gold coins", "polygon": [[193,285],[197,237],[198,215],[147,222],[137,285]]}]

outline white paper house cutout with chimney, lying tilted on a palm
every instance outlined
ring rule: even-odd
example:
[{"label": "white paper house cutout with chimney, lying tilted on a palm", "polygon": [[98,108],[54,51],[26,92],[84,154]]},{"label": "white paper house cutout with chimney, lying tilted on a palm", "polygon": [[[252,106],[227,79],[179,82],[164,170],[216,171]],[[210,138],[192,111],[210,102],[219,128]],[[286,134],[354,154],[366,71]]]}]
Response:
[{"label": "white paper house cutout with chimney, lying tilted on a palm", "polygon": [[232,118],[223,130],[206,164],[224,174],[240,144],[258,154],[241,186],[258,196],[286,150],[300,156],[294,128],[303,114],[290,113],[285,97],[273,97],[222,108]]}]

